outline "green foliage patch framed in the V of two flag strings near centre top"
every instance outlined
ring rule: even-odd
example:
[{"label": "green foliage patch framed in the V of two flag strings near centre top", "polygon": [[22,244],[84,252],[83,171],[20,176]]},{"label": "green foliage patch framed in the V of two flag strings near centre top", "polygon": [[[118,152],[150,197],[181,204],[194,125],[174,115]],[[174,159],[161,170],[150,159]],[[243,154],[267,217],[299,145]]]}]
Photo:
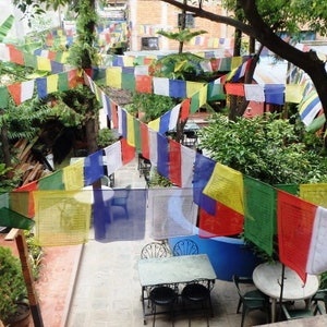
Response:
[{"label": "green foliage patch framed in the V of two flag strings near centre top", "polygon": [[125,108],[134,116],[138,116],[138,113],[142,112],[138,117],[140,120],[148,123],[172,109],[175,105],[177,104],[171,97],[135,93],[132,97],[132,104],[128,105]]}]

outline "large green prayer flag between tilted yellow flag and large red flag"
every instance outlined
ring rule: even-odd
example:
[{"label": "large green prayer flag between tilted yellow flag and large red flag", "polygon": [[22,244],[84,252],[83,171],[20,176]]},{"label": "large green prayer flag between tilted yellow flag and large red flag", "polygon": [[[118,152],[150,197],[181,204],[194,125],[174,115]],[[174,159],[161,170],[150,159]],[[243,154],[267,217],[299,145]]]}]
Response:
[{"label": "large green prayer flag between tilted yellow flag and large red flag", "polygon": [[276,202],[275,187],[244,175],[244,237],[270,256],[277,233]]}]

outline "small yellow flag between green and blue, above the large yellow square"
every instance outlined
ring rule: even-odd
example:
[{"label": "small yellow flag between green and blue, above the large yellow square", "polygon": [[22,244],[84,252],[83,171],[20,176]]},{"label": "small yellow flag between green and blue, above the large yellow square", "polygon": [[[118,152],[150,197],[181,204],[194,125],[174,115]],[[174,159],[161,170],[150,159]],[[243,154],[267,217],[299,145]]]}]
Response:
[{"label": "small yellow flag between green and blue, above the large yellow square", "polygon": [[80,190],[84,186],[84,158],[62,169],[65,190]]}]

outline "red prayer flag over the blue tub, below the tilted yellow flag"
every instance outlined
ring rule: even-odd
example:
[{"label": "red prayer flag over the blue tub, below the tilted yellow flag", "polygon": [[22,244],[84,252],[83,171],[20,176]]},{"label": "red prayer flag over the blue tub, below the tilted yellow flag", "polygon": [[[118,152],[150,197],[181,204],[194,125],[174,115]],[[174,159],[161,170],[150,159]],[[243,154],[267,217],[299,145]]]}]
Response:
[{"label": "red prayer flag over the blue tub, below the tilted yellow flag", "polygon": [[199,208],[199,238],[228,237],[243,232],[244,217],[223,204],[216,203],[216,215]]}]

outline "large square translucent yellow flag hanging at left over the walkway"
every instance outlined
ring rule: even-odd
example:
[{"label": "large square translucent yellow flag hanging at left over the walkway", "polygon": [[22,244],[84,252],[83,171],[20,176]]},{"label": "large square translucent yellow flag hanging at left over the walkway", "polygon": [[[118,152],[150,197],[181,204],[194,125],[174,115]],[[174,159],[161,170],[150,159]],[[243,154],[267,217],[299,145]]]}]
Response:
[{"label": "large square translucent yellow flag hanging at left over the walkway", "polygon": [[88,241],[92,204],[76,195],[85,191],[35,191],[35,242],[40,246]]}]

